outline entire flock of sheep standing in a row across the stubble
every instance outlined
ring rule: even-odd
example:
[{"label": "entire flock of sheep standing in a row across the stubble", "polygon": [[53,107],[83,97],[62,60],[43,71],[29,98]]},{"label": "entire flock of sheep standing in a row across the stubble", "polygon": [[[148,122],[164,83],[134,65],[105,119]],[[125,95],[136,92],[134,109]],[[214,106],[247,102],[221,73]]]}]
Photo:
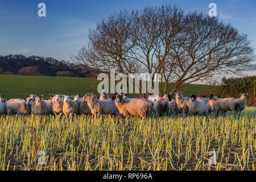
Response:
[{"label": "entire flock of sheep standing in a row across the stubble", "polygon": [[[175,117],[177,113],[188,113],[192,115],[205,115],[214,111],[216,117],[221,112],[235,111],[238,117],[241,111],[246,107],[246,95],[241,94],[240,98],[218,98],[214,94],[210,94],[209,99],[206,97],[197,97],[190,95],[183,97],[180,92],[175,93],[176,99],[172,99],[169,94],[165,94],[162,98],[151,96],[147,98],[128,98],[127,94],[115,93],[112,99],[108,97],[105,91],[101,92],[100,97],[93,94],[65,96],[59,94],[50,94],[49,100],[43,100],[42,95],[31,94],[26,99],[5,100],[5,96],[0,95],[0,114],[32,114],[45,115],[53,113],[56,117],[64,114],[67,118],[76,114],[93,114],[95,118],[100,115],[109,117],[116,116],[121,118],[125,116],[127,124],[131,115],[139,115],[143,119],[150,117],[150,114],[172,115]],[[72,99],[73,98],[73,99]]]}]

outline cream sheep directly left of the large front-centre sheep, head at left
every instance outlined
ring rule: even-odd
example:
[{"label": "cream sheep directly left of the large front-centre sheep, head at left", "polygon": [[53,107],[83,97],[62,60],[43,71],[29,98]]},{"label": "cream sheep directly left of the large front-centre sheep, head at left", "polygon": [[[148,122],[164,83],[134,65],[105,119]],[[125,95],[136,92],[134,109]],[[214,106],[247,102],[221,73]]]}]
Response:
[{"label": "cream sheep directly left of the large front-centre sheep, head at left", "polygon": [[100,114],[109,115],[110,117],[111,115],[121,117],[113,100],[96,100],[93,94],[85,94],[84,97],[82,97],[82,101],[87,102],[94,118],[98,118]]}]

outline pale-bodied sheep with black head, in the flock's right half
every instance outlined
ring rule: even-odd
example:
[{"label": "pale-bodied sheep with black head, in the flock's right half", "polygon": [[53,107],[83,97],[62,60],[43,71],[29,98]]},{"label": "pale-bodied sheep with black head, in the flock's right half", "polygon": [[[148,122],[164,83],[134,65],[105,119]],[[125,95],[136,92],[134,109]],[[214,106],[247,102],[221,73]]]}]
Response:
[{"label": "pale-bodied sheep with black head, in the flock's right half", "polygon": [[192,115],[206,115],[208,117],[207,103],[204,100],[198,100],[196,95],[190,95],[191,102],[188,110]]}]

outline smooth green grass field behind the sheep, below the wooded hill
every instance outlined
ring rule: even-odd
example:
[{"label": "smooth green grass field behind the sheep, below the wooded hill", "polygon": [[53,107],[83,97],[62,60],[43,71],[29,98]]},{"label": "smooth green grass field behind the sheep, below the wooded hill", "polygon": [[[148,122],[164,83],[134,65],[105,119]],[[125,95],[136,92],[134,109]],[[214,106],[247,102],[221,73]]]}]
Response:
[{"label": "smooth green grass field behind the sheep, below the wooded hill", "polygon": [[[0,94],[4,94],[7,100],[25,98],[28,94],[43,94],[44,99],[48,99],[49,94],[75,95],[93,92],[99,95],[99,82],[95,78],[0,75]],[[172,87],[173,85],[170,85],[168,91],[171,91]],[[188,96],[192,93],[205,94],[206,89],[207,85],[189,84],[181,90],[183,96]]]}]

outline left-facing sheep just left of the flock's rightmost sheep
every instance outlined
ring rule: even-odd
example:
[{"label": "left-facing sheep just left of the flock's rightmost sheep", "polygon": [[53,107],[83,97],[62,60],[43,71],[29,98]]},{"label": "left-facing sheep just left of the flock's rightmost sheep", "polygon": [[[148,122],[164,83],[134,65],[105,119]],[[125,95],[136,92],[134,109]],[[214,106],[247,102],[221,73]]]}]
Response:
[{"label": "left-facing sheep just left of the flock's rightmost sheep", "polygon": [[217,98],[214,94],[210,94],[210,107],[216,113],[215,117],[218,117],[218,113],[222,111],[225,114],[226,111],[238,112],[239,102],[235,98]]}]

